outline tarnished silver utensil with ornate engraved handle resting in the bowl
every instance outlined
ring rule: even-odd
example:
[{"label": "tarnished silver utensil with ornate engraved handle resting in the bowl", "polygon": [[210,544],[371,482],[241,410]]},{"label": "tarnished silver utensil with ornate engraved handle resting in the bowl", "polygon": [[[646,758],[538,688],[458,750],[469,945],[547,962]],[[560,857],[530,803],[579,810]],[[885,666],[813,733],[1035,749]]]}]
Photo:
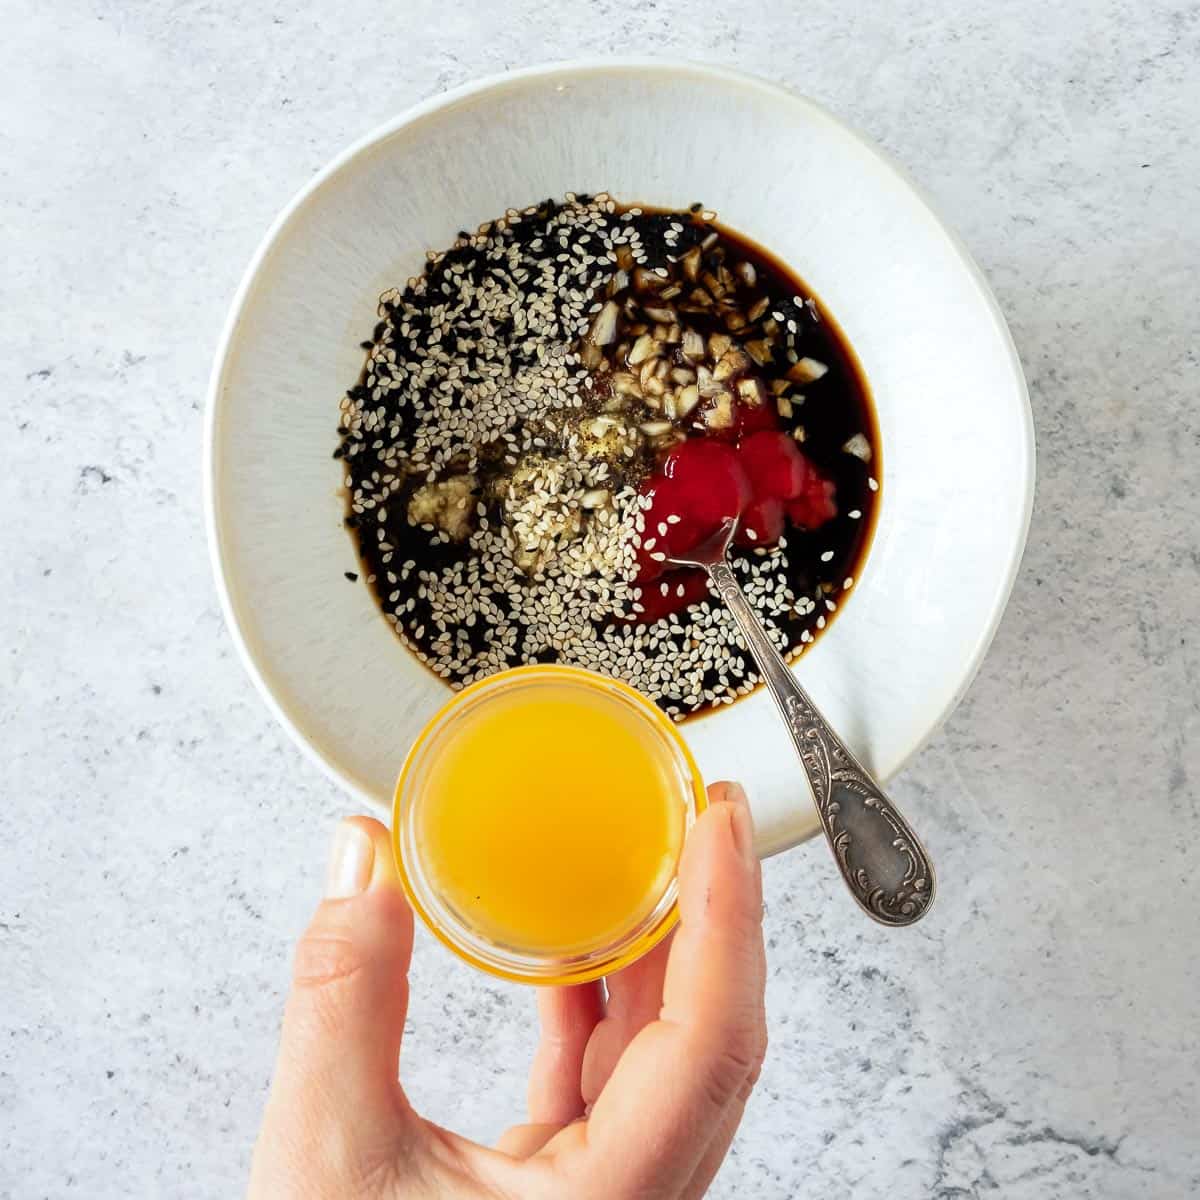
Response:
[{"label": "tarnished silver utensil with ornate engraved handle resting in the bowl", "polygon": [[700,566],[733,613],[804,763],[817,815],[842,878],[863,911],[884,925],[911,925],[934,899],[934,868],[908,822],[796,682],[730,568],[730,518],[674,566]]}]

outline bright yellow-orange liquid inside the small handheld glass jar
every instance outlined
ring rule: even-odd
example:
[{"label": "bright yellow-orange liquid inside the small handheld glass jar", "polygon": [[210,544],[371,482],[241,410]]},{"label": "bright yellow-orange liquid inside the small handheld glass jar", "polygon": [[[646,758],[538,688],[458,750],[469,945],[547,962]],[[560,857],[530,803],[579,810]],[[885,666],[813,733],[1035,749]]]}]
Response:
[{"label": "bright yellow-orange liquid inside the small handheld glass jar", "polygon": [[654,911],[690,802],[646,716],[604,686],[551,680],[455,719],[414,836],[431,886],[480,936],[578,954]]}]

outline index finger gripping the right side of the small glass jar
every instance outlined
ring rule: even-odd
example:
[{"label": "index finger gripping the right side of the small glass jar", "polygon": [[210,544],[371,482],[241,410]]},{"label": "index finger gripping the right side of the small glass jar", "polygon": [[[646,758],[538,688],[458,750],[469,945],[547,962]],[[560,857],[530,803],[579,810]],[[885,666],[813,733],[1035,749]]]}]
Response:
[{"label": "index finger gripping the right side of the small glass jar", "polygon": [[736,785],[714,785],[710,799],[679,868],[662,1013],[630,1043],[587,1123],[588,1156],[614,1193],[690,1180],[766,1050],[752,822]]}]

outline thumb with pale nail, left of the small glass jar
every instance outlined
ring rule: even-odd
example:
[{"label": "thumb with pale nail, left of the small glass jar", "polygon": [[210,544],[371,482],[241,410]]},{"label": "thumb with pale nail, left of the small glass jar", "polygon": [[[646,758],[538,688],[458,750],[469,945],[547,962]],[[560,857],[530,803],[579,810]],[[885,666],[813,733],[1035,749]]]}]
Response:
[{"label": "thumb with pale nail, left of the small glass jar", "polygon": [[343,1128],[380,1147],[412,1116],[397,1079],[408,1012],[413,913],[388,830],[337,827],[325,899],[295,952],[271,1106],[290,1129]]}]

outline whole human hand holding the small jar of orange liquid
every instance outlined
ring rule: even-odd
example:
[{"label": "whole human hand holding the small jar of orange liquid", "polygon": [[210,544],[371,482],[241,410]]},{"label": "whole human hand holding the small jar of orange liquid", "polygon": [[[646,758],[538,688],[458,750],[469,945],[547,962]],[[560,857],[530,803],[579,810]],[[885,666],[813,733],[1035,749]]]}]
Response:
[{"label": "whole human hand holding the small jar of orange liquid", "polygon": [[742,788],[714,784],[673,935],[607,980],[540,989],[529,1123],[492,1150],[422,1120],[397,1080],[413,914],[388,830],[338,827],[296,947],[250,1200],[677,1200],[721,1165],[767,1044],[762,877]]}]

